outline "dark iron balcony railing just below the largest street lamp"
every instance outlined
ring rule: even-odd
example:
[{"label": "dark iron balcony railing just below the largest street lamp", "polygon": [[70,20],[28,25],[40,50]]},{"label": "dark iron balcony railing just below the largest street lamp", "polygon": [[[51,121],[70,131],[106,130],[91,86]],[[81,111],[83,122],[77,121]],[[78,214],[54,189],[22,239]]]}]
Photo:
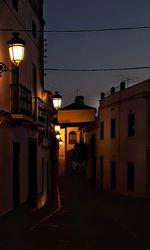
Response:
[{"label": "dark iron balcony railing just below the largest street lamp", "polygon": [[22,84],[11,85],[11,112],[32,116],[31,91]]}]

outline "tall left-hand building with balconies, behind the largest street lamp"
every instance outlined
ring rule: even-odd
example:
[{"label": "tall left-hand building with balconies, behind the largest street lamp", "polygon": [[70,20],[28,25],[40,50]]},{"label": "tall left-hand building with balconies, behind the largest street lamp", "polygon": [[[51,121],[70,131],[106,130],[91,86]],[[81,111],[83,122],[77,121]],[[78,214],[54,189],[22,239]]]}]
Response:
[{"label": "tall left-hand building with balconies, behind the largest street lamp", "polygon": [[[0,77],[0,215],[28,202],[47,200],[50,166],[48,113],[44,102],[43,1],[2,0],[0,61],[9,69],[7,41],[25,40],[25,59]],[[6,18],[7,17],[7,18]]]}]

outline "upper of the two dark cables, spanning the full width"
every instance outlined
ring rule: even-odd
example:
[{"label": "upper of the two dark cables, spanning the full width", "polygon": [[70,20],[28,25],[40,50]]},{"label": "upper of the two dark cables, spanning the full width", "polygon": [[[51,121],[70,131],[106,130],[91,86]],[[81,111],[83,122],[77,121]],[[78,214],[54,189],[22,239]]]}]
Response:
[{"label": "upper of the two dark cables, spanning the full width", "polygon": [[[133,27],[112,27],[112,28],[94,28],[94,29],[45,29],[37,30],[37,32],[44,33],[83,33],[83,32],[109,32],[109,31],[127,31],[127,30],[143,30],[150,29],[150,25],[145,26],[133,26]],[[11,32],[32,32],[31,29],[12,29],[12,28],[0,28],[0,31]]]}]

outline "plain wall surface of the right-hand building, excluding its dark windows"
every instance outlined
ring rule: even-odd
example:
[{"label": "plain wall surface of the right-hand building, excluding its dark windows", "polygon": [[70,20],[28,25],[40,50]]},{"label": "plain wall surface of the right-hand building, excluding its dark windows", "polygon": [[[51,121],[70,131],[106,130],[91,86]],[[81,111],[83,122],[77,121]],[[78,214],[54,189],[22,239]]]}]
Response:
[{"label": "plain wall surface of the right-hand building, excluding its dark windows", "polygon": [[[99,123],[104,122],[104,140],[99,140],[99,155],[104,157],[104,191],[110,187],[110,162],[116,161],[115,192],[147,196],[147,98],[148,82],[132,86],[100,102]],[[135,114],[135,135],[128,136],[128,114]],[[110,138],[111,118],[116,119],[116,138]],[[135,191],[127,190],[128,162],[135,163]]]}]

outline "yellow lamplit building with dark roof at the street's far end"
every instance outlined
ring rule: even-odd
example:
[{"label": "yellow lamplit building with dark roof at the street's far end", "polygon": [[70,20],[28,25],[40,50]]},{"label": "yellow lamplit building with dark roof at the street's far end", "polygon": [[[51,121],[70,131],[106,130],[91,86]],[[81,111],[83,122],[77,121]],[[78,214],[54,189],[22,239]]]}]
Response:
[{"label": "yellow lamplit building with dark roof at the street's far end", "polygon": [[95,121],[96,109],[84,104],[83,96],[76,96],[75,102],[58,110],[58,122],[61,126],[59,145],[59,175],[69,174],[73,165],[82,162],[80,152],[74,151],[75,145],[80,144],[82,126]]}]

